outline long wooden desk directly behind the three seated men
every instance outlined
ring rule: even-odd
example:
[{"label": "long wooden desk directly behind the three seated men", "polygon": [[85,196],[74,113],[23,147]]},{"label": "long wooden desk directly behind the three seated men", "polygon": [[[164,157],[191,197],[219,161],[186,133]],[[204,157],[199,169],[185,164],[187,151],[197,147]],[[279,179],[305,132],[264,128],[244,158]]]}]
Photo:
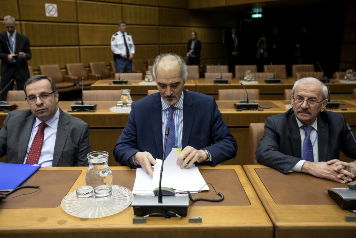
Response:
[{"label": "long wooden desk directly behind the three seated men", "polygon": [[[356,100],[343,100],[346,105],[340,106],[333,111],[342,113],[346,121],[351,126],[356,126]],[[237,112],[234,108],[235,101],[216,101],[224,121],[227,123],[231,134],[237,141],[237,156],[224,162],[225,165],[243,165],[251,164],[250,155],[248,151],[248,126],[254,122],[265,122],[266,118],[272,115],[280,114],[287,111],[286,105],[290,101],[258,101],[260,106],[271,109],[264,109],[263,111],[240,111]],[[60,101],[59,107],[67,112],[70,110],[70,105],[74,102]],[[127,117],[129,113],[114,113],[110,112],[109,108],[116,105],[114,101],[108,102],[85,102],[96,103],[95,112],[71,112],[70,115],[78,117],[89,124],[89,141],[91,150],[104,150],[109,152],[109,166],[118,166],[112,155],[112,150],[115,147],[117,139],[121,135],[122,129],[126,126]],[[19,105],[18,109],[28,109],[26,102],[16,102]],[[347,111],[342,111],[342,108],[347,108]],[[7,113],[0,112],[0,124],[5,120]],[[144,118],[142,120],[145,120]],[[340,153],[340,159],[351,161],[346,158],[344,154]],[[5,161],[2,157],[0,161]]]}]

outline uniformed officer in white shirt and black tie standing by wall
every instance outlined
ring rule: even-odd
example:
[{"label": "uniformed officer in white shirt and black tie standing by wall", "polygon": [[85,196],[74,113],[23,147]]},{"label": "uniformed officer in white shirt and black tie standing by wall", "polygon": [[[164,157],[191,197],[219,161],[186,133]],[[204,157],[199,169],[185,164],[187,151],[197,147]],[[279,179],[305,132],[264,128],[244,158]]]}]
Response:
[{"label": "uniformed officer in white shirt and black tie standing by wall", "polygon": [[126,32],[125,21],[118,21],[117,28],[119,31],[111,36],[111,51],[114,54],[116,72],[132,73],[132,58],[135,54],[135,45],[133,44],[132,36]]}]

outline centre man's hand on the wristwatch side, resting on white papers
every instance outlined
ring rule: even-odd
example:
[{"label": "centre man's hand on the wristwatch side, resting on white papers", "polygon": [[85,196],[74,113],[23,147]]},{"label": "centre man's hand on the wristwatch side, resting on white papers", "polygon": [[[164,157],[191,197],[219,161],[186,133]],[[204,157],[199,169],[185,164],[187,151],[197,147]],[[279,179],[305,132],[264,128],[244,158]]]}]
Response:
[{"label": "centre man's hand on the wristwatch side, resting on white papers", "polygon": [[206,159],[208,158],[204,150],[198,151],[191,146],[187,146],[180,152],[177,164],[180,164],[183,161],[182,164],[180,164],[180,168],[189,168],[194,162],[201,163]]}]

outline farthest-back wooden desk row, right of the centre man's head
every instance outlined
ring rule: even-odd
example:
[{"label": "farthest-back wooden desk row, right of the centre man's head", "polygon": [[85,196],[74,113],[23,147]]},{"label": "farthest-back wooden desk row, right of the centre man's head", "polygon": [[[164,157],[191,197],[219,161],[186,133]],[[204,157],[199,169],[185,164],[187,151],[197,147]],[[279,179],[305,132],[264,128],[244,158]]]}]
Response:
[{"label": "farthest-back wooden desk row, right of the centre man's head", "polygon": [[[283,100],[284,89],[292,89],[295,79],[283,79],[283,83],[265,83],[264,80],[256,80],[258,84],[244,83],[245,88],[259,89],[261,100]],[[196,92],[205,93],[214,96],[218,99],[219,89],[243,89],[240,82],[241,79],[229,80],[230,84],[214,84],[211,79],[194,80],[196,84]],[[326,83],[325,83],[326,85]],[[352,99],[352,90],[356,88],[356,84],[340,83],[339,80],[333,79],[329,83],[331,99]]]}]

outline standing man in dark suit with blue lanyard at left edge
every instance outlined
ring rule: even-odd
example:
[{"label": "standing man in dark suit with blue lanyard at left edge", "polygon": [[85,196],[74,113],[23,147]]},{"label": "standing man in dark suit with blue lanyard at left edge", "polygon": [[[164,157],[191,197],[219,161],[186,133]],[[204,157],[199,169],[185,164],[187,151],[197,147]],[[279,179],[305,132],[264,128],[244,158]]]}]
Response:
[{"label": "standing man in dark suit with blue lanyard at left edge", "polygon": [[[31,59],[28,37],[16,31],[15,18],[5,16],[2,25],[6,31],[0,32],[1,90],[11,81],[16,80],[18,90],[23,90],[23,83],[30,77],[27,60]],[[12,83],[1,93],[0,101],[5,101],[7,92],[14,87]]]}]

